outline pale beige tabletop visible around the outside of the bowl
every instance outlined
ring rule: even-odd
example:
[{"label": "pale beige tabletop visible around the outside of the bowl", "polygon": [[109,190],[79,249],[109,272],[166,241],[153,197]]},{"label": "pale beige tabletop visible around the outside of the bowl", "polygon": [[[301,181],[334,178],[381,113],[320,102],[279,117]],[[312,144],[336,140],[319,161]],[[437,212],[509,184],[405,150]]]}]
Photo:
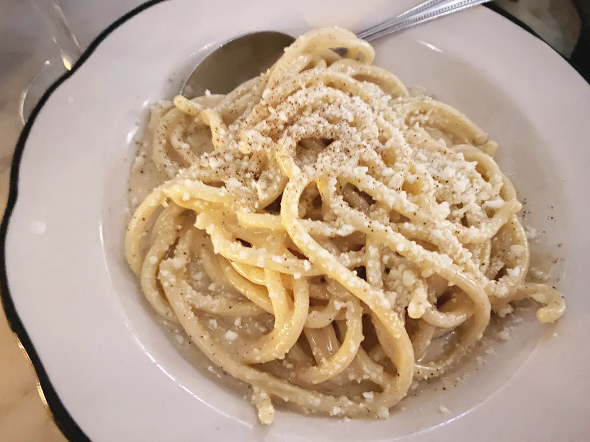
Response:
[{"label": "pale beige tabletop visible around the outside of the bowl", "polygon": [[[81,47],[139,0],[61,0]],[[499,0],[501,7],[535,29],[562,54],[578,37],[579,18],[570,0]],[[9,170],[21,130],[18,102],[45,60],[58,56],[31,2],[0,1],[0,210],[8,195]],[[65,441],[40,400],[30,362],[0,312],[0,441]]]}]

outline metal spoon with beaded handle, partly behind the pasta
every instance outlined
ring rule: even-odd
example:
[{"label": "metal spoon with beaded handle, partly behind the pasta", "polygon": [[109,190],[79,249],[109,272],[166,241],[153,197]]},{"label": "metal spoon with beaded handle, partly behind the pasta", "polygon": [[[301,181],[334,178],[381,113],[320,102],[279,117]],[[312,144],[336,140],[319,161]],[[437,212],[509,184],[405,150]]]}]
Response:
[{"label": "metal spoon with beaded handle, partly behind the pasta", "polygon": [[[427,0],[356,35],[373,41],[487,1]],[[270,68],[293,41],[295,38],[291,35],[276,31],[251,32],[235,37],[199,63],[182,86],[181,95],[194,98],[204,95],[207,90],[215,94],[230,93],[244,81]]]}]

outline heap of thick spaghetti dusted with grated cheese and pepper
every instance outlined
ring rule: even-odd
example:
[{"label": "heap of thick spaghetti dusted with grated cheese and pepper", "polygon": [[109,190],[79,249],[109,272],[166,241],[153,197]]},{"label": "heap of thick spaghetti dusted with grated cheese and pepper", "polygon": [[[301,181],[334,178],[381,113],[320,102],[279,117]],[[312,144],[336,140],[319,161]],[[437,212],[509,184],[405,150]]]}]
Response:
[{"label": "heap of thick spaghetti dusted with grated cheese and pepper", "polygon": [[525,282],[497,143],[372,60],[349,31],[309,32],[230,94],[156,105],[140,146],[160,183],[127,260],[153,308],[251,385],[263,423],[272,398],[385,417],[412,380],[457,364],[491,312],[565,309]]}]

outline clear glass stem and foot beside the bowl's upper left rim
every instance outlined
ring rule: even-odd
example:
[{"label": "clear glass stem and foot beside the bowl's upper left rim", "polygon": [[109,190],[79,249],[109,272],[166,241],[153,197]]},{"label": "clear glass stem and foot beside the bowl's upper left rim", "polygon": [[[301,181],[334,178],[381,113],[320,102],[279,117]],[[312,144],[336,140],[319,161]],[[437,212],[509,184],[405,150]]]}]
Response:
[{"label": "clear glass stem and foot beside the bowl's upper left rim", "polygon": [[47,27],[51,39],[59,48],[61,57],[46,61],[28,87],[22,91],[19,114],[23,123],[27,121],[41,95],[66,70],[71,70],[81,54],[80,45],[68,27],[58,0],[31,0],[31,3]]}]

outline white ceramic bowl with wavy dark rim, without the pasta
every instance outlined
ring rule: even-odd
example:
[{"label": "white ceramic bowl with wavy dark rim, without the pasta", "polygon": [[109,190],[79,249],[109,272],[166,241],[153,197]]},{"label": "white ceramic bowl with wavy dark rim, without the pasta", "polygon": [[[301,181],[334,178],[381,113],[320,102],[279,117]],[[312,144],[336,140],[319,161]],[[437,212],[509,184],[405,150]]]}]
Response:
[{"label": "white ceramic bowl with wavy dark rim, without the pasta", "polygon": [[133,138],[149,106],[172,97],[199,58],[258,29],[359,30],[413,1],[150,2],[107,29],[41,100],[15,154],[0,281],[9,320],[68,437],[587,440],[590,87],[546,44],[489,9],[384,38],[376,64],[499,141],[500,166],[526,199],[526,224],[540,233],[535,256],[545,268],[557,259],[553,275],[568,302],[558,324],[520,324],[496,357],[467,362],[457,374],[466,380],[411,395],[388,420],[279,412],[267,428],[247,401],[179,352],[124,261]]}]

